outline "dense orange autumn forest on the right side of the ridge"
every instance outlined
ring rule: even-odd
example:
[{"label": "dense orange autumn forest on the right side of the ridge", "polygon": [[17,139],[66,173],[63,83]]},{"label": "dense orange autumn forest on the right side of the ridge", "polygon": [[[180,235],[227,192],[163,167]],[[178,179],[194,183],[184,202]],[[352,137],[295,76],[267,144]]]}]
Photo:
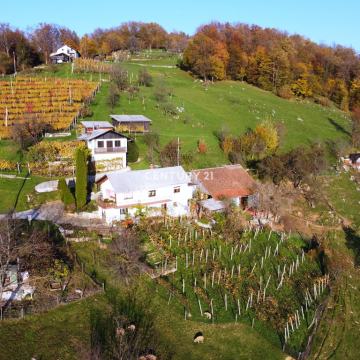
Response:
[{"label": "dense orange autumn forest on the right side of the ridge", "polygon": [[300,35],[244,24],[201,26],[182,66],[207,80],[244,80],[284,98],[329,100],[347,111],[360,105],[360,56]]}]

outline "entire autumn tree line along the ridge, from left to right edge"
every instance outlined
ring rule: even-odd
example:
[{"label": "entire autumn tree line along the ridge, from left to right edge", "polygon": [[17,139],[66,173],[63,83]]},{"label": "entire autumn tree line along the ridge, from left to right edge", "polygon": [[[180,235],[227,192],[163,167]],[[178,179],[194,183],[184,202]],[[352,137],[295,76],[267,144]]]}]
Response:
[{"label": "entire autumn tree line along the ridge, from left to right edge", "polygon": [[244,80],[284,98],[313,98],[322,105],[332,101],[344,111],[360,106],[360,56],[355,50],[245,24],[210,23],[191,38],[168,33],[156,23],[128,22],[82,38],[54,24],[41,23],[28,33],[0,24],[0,73],[48,63],[50,53],[63,44],[85,58],[164,49],[183,53],[182,67],[207,80]]}]

